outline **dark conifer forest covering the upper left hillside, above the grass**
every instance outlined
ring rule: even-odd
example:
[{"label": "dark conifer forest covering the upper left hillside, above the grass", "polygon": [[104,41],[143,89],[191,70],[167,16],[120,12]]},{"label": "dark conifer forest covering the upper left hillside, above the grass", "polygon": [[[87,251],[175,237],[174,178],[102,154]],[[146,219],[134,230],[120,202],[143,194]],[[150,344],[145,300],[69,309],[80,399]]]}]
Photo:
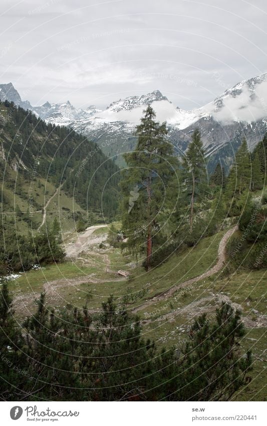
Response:
[{"label": "dark conifer forest covering the upper left hillside, above the grass", "polygon": [[[5,101],[0,103],[0,150],[1,179],[14,194],[20,195],[20,180],[30,185],[31,180],[44,178],[56,187],[66,181],[64,189],[82,207],[98,211],[103,202],[104,215],[115,213],[118,169],[86,137],[47,124],[31,111]],[[17,172],[17,184],[11,170]],[[37,209],[42,207],[37,200],[33,203]]]}]

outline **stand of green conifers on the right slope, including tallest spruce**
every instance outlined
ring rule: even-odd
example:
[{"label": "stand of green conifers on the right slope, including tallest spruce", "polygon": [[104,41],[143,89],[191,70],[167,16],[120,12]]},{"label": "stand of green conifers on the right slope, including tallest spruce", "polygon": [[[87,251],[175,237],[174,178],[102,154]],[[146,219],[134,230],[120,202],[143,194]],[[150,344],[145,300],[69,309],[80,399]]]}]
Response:
[{"label": "stand of green conifers on the right slope, including tallest spruce", "polygon": [[[266,136],[252,153],[243,139],[226,177],[221,164],[208,174],[199,130],[194,130],[182,161],[168,143],[167,133],[165,123],[155,121],[149,106],[137,126],[137,150],[124,155],[128,168],[120,186],[127,243],[122,247],[139,256],[147,269],[231,224],[246,226],[253,205],[264,205],[266,197]],[[259,190],[258,200],[253,201]],[[261,239],[263,246],[265,220],[265,208],[258,207],[254,242]]]}]

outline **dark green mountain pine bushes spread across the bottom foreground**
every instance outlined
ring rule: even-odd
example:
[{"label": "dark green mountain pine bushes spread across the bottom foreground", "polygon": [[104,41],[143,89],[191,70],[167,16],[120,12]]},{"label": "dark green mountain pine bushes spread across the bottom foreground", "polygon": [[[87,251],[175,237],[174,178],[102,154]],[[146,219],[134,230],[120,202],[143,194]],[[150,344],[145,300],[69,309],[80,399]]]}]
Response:
[{"label": "dark green mountain pine bushes spread across the bottom foreground", "polygon": [[113,297],[90,315],[86,306],[56,312],[41,294],[22,328],[13,314],[3,281],[2,400],[225,401],[250,381],[251,353],[242,355],[238,344],[240,313],[228,304],[215,322],[196,319],[187,340],[170,350],[145,340],[138,317]]}]

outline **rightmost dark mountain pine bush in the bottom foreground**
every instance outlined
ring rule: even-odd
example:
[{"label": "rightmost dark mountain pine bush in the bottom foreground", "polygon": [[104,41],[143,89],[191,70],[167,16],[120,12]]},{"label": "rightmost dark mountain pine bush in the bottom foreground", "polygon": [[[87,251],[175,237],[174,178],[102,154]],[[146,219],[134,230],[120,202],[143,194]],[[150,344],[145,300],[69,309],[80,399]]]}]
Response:
[{"label": "rightmost dark mountain pine bush in the bottom foreground", "polygon": [[[238,340],[244,336],[240,312],[222,303],[216,310],[216,324],[205,314],[190,330],[191,342],[184,349],[184,388],[177,400],[227,401],[251,380],[251,351],[242,358]],[[177,386],[178,387],[178,386]]]}]

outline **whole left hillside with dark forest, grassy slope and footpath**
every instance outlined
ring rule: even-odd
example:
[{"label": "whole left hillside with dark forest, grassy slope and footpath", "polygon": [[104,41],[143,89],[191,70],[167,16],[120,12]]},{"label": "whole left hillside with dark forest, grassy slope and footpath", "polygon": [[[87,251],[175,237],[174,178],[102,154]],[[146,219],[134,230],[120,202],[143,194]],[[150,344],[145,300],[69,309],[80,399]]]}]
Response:
[{"label": "whole left hillside with dark forest, grassy slope and footpath", "polygon": [[[1,272],[58,261],[64,255],[60,228],[79,231],[113,218],[117,171],[86,137],[0,102]],[[34,241],[42,224],[49,230]]]}]

